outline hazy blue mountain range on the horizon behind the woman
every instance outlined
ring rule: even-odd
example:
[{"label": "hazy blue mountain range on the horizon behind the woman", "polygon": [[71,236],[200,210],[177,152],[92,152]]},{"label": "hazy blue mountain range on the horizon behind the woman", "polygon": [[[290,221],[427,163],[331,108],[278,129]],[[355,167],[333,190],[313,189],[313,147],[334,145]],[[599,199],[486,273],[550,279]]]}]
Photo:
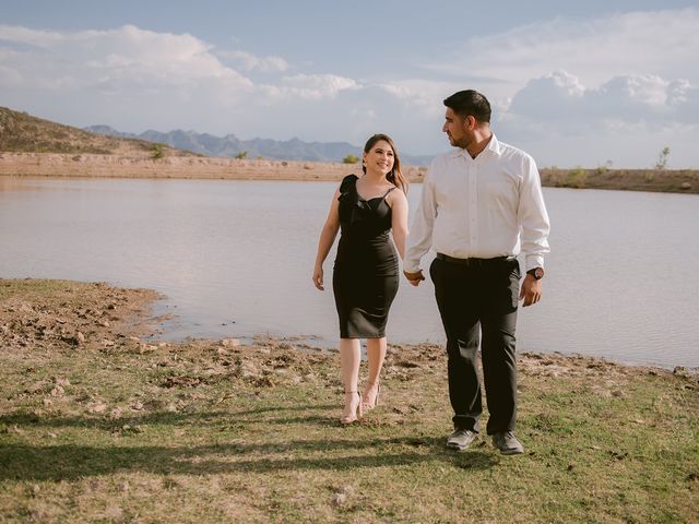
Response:
[{"label": "hazy blue mountain range on the horizon behind the woman", "polygon": [[[277,141],[271,139],[240,140],[235,134],[215,136],[209,133],[175,130],[167,133],[145,131],[141,134],[125,133],[109,126],[83,128],[92,133],[122,139],[140,139],[167,144],[178,150],[206,156],[246,158],[273,158],[280,160],[342,162],[347,155],[360,156],[362,147],[347,142],[304,142],[299,139]],[[415,156],[401,153],[401,162],[411,166],[426,166],[433,156]]]}]

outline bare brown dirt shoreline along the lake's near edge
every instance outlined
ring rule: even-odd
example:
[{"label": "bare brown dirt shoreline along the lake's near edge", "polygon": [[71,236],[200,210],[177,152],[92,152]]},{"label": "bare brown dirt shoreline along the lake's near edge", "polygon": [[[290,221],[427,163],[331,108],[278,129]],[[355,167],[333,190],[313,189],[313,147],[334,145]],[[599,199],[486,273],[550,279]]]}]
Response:
[{"label": "bare brown dirt shoreline along the lake's near edge", "polygon": [[[80,297],[80,300],[74,300]],[[68,347],[97,350],[144,350],[155,347],[180,347],[193,344],[209,347],[247,347],[263,344],[298,350],[334,355],[333,346],[313,345],[313,335],[249,337],[159,337],[166,313],[154,317],[153,306],[163,297],[146,288],[122,288],[106,283],[40,278],[0,278],[0,347],[22,350],[27,347]],[[58,306],[60,303],[60,306]],[[389,343],[389,353],[398,350],[443,353],[443,344],[433,342]],[[518,360],[548,361],[558,367],[619,367],[639,372],[660,372],[696,377],[699,367],[663,367],[653,364],[624,362],[608,357],[579,353],[518,352]]]}]

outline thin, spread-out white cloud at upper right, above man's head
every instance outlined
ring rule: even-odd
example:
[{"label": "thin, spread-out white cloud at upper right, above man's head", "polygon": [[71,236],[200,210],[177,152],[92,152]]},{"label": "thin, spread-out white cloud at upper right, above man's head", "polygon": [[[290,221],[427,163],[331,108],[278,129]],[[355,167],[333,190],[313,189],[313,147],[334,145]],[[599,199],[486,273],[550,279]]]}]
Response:
[{"label": "thin, spread-out white cloud at upper right, above man's head", "polygon": [[[633,12],[579,23],[555,19],[467,39],[427,70],[477,76],[491,98],[566,69],[590,86],[619,75],[654,74],[699,83],[699,9]],[[487,80],[491,79],[491,80]]]}]

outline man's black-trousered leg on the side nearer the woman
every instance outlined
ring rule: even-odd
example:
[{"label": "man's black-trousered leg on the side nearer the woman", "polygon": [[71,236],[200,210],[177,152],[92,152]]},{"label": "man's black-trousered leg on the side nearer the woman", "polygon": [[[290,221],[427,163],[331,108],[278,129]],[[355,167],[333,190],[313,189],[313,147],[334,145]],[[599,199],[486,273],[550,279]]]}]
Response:
[{"label": "man's black-trousered leg on the side nearer the woman", "polygon": [[466,291],[473,278],[467,266],[438,259],[433,262],[429,274],[447,334],[447,372],[454,428],[477,432],[483,413],[476,373],[479,325],[475,293]]}]

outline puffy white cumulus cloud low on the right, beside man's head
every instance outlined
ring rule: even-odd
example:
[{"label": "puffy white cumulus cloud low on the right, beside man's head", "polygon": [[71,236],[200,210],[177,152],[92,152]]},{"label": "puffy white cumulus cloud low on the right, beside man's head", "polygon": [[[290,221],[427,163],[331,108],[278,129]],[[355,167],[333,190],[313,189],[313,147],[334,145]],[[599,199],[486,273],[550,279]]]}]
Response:
[{"label": "puffy white cumulus cloud low on the right, beside man's head", "polygon": [[528,82],[496,129],[543,165],[612,160],[617,167],[650,167],[670,145],[672,162],[689,166],[699,138],[699,90],[656,75],[617,76],[585,87],[558,71]]}]

